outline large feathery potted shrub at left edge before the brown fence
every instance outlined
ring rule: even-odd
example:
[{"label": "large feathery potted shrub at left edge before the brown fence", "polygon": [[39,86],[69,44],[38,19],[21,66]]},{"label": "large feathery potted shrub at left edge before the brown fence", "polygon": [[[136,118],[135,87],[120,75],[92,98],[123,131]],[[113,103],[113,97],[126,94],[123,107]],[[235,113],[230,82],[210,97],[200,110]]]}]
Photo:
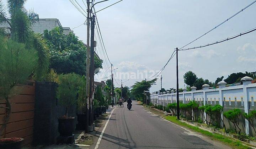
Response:
[{"label": "large feathery potted shrub at left edge before the brown fence", "polygon": [[[37,64],[37,53],[35,50],[28,50],[24,44],[12,40],[0,38],[0,100],[6,103],[0,108],[5,109],[6,116],[0,128],[0,134],[4,131],[12,113],[11,98],[18,94],[21,86],[30,77]],[[22,138],[0,139],[0,148],[20,149]]]}]

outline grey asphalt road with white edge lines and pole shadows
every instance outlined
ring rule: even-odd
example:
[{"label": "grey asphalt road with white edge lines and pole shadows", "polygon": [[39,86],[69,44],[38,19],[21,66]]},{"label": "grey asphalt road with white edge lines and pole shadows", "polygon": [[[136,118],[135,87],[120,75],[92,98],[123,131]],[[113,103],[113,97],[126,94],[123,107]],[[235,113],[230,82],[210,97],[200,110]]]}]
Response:
[{"label": "grey asphalt road with white edge lines and pole shadows", "polygon": [[130,111],[126,104],[114,109],[98,148],[229,148],[151,114],[136,101]]}]

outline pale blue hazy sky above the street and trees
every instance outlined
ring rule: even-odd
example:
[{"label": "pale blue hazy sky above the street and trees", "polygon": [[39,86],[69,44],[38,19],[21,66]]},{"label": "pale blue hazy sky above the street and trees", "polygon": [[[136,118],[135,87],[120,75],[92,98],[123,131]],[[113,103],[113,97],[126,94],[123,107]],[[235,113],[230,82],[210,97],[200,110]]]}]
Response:
[{"label": "pale blue hazy sky above the street and trees", "polygon": [[[76,1],[84,7],[82,0]],[[100,10],[117,1],[97,4],[95,9]],[[131,86],[135,81],[150,78],[166,64],[174,48],[196,39],[252,1],[123,0],[98,12],[97,19],[108,57],[114,68],[118,68],[115,70],[118,78],[114,75],[115,86],[120,87],[121,79],[129,79],[124,85]],[[63,27],[74,28],[86,20],[69,0],[28,0],[26,8],[34,9],[39,18],[58,18]],[[254,28],[255,14],[256,3],[186,48],[216,42]],[[73,31],[80,40],[86,41],[85,25]],[[105,64],[95,78],[98,78],[97,81],[106,80],[100,78],[111,78],[111,66],[102,56],[99,43],[97,48],[96,52]],[[184,73],[190,70],[198,78],[212,82],[221,76],[225,79],[233,72],[256,71],[255,55],[256,32],[206,48],[179,51],[180,88],[184,88]],[[161,74],[163,88],[176,88],[176,56]],[[159,89],[160,79],[150,91]]]}]

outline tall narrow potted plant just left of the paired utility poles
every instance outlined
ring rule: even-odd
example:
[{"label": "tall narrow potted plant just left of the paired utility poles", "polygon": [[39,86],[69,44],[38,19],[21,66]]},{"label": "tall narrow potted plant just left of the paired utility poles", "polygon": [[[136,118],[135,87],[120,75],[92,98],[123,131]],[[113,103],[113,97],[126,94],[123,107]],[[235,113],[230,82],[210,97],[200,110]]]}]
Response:
[{"label": "tall narrow potted plant just left of the paired utility poles", "polygon": [[78,124],[76,124],[76,130],[85,130],[86,125],[86,77],[82,76],[80,87],[78,90]]}]

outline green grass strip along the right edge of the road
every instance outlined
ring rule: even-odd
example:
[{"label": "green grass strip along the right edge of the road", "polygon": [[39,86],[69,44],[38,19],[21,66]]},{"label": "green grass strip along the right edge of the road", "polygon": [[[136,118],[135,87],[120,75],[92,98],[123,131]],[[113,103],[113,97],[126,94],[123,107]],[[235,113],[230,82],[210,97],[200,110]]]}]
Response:
[{"label": "green grass strip along the right edge of the road", "polygon": [[205,136],[208,136],[208,137],[210,137],[212,139],[215,139],[215,140],[218,140],[220,142],[223,142],[224,144],[227,144],[230,147],[240,148],[240,149],[248,149],[249,148],[246,145],[243,145],[243,142],[241,142],[239,140],[234,140],[232,138],[223,136],[223,135],[218,134],[218,133],[211,133],[209,131],[205,131],[203,129],[200,129],[199,127],[188,125],[187,123],[183,123],[183,122],[177,120],[177,118],[175,116],[164,116],[164,118],[166,120],[170,121],[170,122],[176,123],[176,124],[181,125],[181,126],[185,126],[187,128],[192,129],[193,131],[202,133]]}]

